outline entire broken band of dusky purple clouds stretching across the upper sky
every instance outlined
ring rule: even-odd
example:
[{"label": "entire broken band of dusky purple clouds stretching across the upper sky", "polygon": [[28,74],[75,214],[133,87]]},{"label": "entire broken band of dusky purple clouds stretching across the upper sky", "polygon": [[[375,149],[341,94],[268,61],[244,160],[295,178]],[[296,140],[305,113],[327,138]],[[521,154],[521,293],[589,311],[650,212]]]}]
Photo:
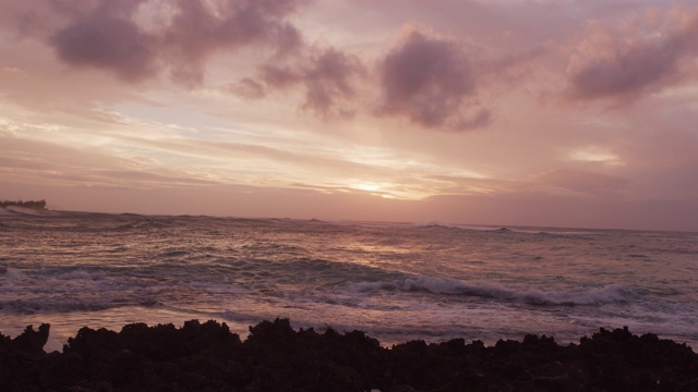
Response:
[{"label": "entire broken band of dusky purple clouds stretching across the upper sky", "polygon": [[[207,65],[215,54],[249,48],[257,56],[256,74],[229,84],[229,90],[241,97],[261,99],[272,91],[300,88],[304,91],[300,107],[323,118],[351,118],[364,110],[435,130],[490,125],[494,108],[482,105],[482,91],[513,83],[507,70],[497,69],[516,68],[541,51],[535,42],[520,51],[533,57],[489,50],[494,54],[481,59],[482,51],[470,37],[408,27],[401,41],[369,61],[332,44],[309,44],[293,20],[309,0],[80,4],[2,0],[0,4],[4,10],[0,21],[7,27],[44,40],[70,66],[105,70],[128,83],[142,83],[165,71],[180,86],[197,88],[206,85]],[[619,24],[588,20],[587,26],[573,44],[566,70],[547,70],[564,72],[565,99],[633,102],[697,78],[698,8],[648,9]],[[559,53],[564,45],[558,42]],[[546,50],[552,47],[549,42]],[[365,97],[356,98],[366,85],[378,87],[368,99],[371,103]]]}]

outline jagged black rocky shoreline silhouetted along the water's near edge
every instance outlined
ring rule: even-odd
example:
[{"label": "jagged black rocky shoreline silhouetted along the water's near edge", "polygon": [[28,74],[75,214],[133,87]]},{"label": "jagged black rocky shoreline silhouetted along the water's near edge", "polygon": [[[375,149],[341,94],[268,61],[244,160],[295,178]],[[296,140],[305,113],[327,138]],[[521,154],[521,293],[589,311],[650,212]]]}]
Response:
[{"label": "jagged black rocky shoreline silhouetted along the water's near edge", "polygon": [[0,334],[3,391],[698,391],[689,346],[627,329],[568,345],[529,334],[386,348],[360,331],[296,331],[288,319],[251,327],[244,341],[192,320],[82,328],[62,353],[45,353],[48,334],[48,324]]}]

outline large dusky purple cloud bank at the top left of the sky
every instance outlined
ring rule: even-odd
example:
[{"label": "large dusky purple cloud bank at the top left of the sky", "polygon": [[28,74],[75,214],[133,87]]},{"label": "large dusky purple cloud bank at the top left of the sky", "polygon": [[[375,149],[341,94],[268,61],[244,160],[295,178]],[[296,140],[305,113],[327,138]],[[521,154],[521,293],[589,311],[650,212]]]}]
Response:
[{"label": "large dusky purple cloud bank at the top left of the sky", "polygon": [[[140,82],[169,69],[174,82],[195,87],[203,84],[205,62],[216,51],[253,45],[274,49],[276,58],[297,51],[302,37],[286,17],[304,2],[178,0],[163,10],[159,16],[167,23],[158,29],[145,29],[139,23],[146,0],[100,0],[81,10],[49,3],[53,16],[31,10],[16,12],[29,22],[65,20],[48,34],[48,42],[70,65],[107,70],[127,82]],[[39,29],[36,22],[29,22],[23,24],[24,29]]]}]

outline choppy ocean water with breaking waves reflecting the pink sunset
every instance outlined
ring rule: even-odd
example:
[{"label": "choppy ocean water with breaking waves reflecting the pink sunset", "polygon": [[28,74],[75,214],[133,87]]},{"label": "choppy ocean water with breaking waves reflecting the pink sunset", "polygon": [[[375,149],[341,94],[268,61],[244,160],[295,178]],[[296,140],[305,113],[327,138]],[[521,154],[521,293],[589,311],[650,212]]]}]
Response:
[{"label": "choppy ocean water with breaking waves reflecting the pink sunset", "polygon": [[627,326],[698,347],[698,233],[0,209],[0,332],[215,319],[577,342]]}]

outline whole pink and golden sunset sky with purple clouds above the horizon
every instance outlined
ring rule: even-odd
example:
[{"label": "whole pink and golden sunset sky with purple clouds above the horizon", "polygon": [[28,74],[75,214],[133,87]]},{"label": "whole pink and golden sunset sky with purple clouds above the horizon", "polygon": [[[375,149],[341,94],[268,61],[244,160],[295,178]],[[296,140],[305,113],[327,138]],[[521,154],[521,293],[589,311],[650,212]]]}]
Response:
[{"label": "whole pink and golden sunset sky with purple clouds above the horizon", "polygon": [[695,0],[0,8],[0,199],[698,231]]}]

